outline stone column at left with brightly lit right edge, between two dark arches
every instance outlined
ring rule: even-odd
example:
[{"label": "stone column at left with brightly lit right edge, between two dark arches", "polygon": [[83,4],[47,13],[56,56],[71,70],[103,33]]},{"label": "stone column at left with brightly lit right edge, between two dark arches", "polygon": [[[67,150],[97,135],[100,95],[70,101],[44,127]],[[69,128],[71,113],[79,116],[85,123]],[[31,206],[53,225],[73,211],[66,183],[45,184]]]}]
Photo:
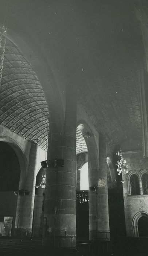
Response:
[{"label": "stone column at left with brightly lit right edge, between two dark arches", "polygon": [[[32,143],[26,179],[20,182],[19,187],[22,195],[18,195],[17,199],[15,236],[29,237],[32,233],[37,163],[38,145]],[[29,191],[29,195],[24,195],[24,191]]]}]

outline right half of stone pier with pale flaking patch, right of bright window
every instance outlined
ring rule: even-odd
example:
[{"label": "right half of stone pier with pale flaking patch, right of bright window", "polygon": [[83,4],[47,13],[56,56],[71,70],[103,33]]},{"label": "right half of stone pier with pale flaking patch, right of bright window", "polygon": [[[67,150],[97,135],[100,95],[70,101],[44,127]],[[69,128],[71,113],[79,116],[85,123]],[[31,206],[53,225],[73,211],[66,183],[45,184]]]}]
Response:
[{"label": "right half of stone pier with pale flaking patch, right of bright window", "polygon": [[106,169],[106,142],[99,134],[99,177],[97,188],[97,237],[110,240],[108,212],[108,184]]}]

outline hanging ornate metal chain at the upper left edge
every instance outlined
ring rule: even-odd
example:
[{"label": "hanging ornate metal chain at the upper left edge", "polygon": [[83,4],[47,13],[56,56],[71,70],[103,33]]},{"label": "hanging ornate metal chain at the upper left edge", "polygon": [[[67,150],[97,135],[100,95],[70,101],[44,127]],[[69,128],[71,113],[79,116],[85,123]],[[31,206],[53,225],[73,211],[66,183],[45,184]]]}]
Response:
[{"label": "hanging ornate metal chain at the upper left edge", "polygon": [[7,33],[7,27],[4,25],[0,26],[0,49],[2,48],[2,55],[1,55],[1,63],[0,63],[0,85],[1,85],[1,78],[3,72],[3,62],[4,62],[4,53],[5,53],[5,44],[6,38],[4,35]]}]

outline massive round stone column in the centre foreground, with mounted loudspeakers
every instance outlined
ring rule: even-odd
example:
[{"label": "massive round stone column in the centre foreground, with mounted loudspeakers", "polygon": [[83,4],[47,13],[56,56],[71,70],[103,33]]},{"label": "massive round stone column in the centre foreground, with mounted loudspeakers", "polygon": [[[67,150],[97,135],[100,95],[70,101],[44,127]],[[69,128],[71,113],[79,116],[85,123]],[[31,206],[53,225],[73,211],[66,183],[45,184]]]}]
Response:
[{"label": "massive round stone column in the centre foreground, with mounted loudspeakers", "polygon": [[76,91],[67,86],[65,120],[55,110],[50,124],[48,159],[64,159],[64,167],[46,170],[43,245],[51,248],[76,243]]}]

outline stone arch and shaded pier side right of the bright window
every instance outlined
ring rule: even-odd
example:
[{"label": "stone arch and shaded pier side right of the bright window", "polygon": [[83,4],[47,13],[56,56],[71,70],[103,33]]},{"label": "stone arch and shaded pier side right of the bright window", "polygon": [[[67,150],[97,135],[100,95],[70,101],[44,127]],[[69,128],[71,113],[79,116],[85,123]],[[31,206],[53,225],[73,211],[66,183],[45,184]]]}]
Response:
[{"label": "stone arch and shaded pier side right of the bright window", "polygon": [[90,132],[90,137],[85,138],[87,150],[88,150],[88,173],[89,173],[89,240],[94,239],[94,234],[97,233],[97,219],[98,211],[96,207],[96,192],[92,187],[98,186],[98,177],[99,177],[99,156],[97,150],[96,140],[94,135],[88,126],[88,124],[80,120],[77,123],[77,127],[81,131],[82,135],[85,135],[86,132]]}]

